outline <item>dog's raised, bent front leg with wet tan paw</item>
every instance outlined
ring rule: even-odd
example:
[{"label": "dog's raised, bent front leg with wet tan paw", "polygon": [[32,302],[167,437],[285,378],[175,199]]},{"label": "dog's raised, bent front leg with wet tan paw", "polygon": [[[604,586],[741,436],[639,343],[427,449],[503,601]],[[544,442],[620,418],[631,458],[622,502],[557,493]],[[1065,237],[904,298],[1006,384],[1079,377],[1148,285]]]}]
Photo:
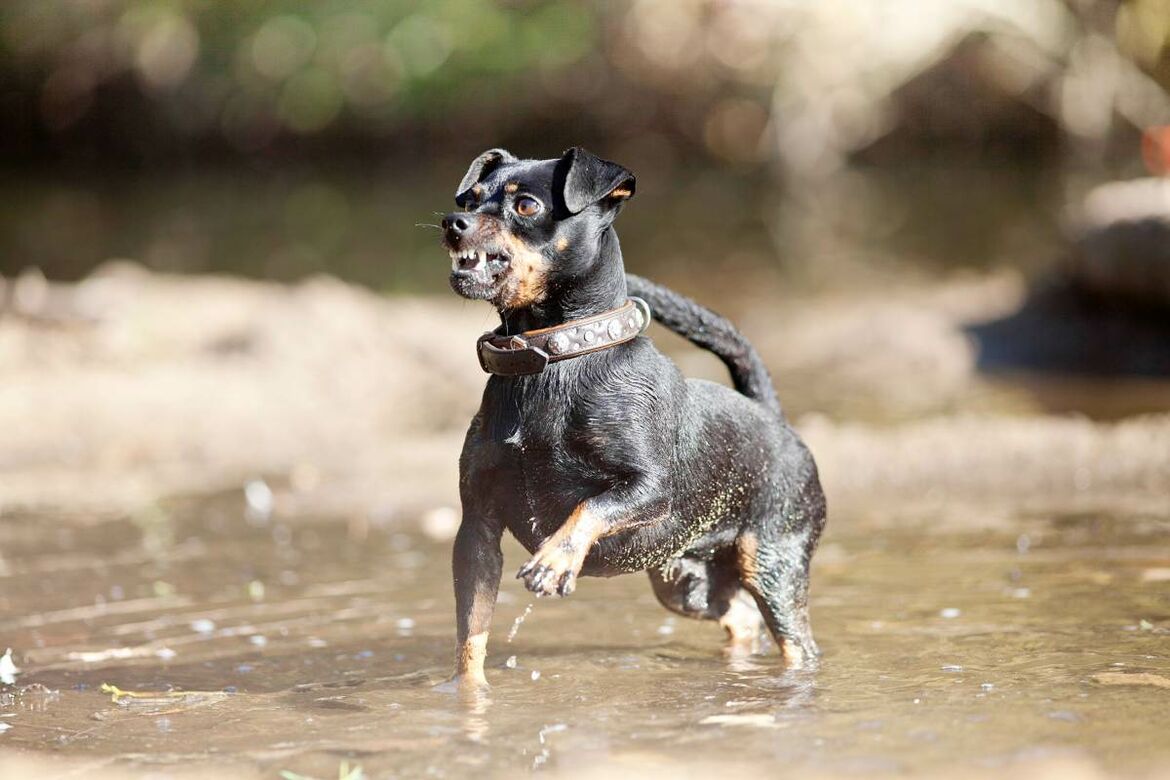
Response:
[{"label": "dog's raised, bent front leg with wet tan paw", "polygon": [[667,496],[662,481],[642,478],[581,502],[516,577],[537,595],[569,595],[597,540],[661,517]]}]

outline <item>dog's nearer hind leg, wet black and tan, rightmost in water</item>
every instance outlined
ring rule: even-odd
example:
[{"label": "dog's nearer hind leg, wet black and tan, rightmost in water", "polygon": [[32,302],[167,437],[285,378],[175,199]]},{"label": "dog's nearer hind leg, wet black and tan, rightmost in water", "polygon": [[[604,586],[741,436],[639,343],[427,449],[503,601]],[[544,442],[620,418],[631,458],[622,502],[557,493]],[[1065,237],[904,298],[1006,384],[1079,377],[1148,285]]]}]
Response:
[{"label": "dog's nearer hind leg, wet black and tan, rightmost in water", "polygon": [[820,654],[808,624],[808,564],[824,519],[825,501],[812,484],[796,505],[736,538],[741,581],[790,669],[815,664]]}]

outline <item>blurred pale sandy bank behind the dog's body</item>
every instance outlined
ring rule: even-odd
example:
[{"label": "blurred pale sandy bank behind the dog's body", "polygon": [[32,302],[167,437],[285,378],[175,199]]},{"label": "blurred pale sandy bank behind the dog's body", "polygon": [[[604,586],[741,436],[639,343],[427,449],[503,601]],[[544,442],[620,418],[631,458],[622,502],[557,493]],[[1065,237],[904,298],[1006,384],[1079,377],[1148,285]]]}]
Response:
[{"label": "blurred pale sandy bank behind the dog's body", "polygon": [[[289,511],[455,502],[486,306],[130,264],[23,284],[0,311],[0,511],[124,512],[256,477]],[[1102,423],[979,401],[963,325],[1002,316],[1019,289],[992,277],[742,312],[835,505],[1164,504],[1170,415]],[[718,373],[663,344],[688,371]],[[808,413],[818,395],[895,414]]]}]

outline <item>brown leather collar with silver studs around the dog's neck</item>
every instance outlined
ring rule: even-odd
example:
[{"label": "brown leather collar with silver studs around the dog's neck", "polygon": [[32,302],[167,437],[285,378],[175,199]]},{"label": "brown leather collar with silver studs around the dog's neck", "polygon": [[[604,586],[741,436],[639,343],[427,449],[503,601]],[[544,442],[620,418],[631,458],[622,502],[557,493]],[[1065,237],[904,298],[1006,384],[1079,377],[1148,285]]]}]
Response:
[{"label": "brown leather collar with silver studs around the dog's neck", "polygon": [[600,315],[573,319],[552,327],[508,336],[497,330],[480,337],[475,350],[480,366],[497,377],[538,374],[550,363],[625,344],[646,332],[651,308],[641,298]]}]

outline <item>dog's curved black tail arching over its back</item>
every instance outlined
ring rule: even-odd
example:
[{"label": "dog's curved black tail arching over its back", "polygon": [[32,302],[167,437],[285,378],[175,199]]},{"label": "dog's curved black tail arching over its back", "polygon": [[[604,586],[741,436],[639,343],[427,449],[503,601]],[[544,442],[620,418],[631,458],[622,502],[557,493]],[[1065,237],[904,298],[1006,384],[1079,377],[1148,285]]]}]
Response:
[{"label": "dog's curved black tail arching over its back", "polygon": [[651,305],[654,319],[695,346],[715,353],[731,372],[737,391],[777,415],[783,414],[772,378],[759,353],[728,319],[641,276],[626,274],[626,287],[629,295]]}]

